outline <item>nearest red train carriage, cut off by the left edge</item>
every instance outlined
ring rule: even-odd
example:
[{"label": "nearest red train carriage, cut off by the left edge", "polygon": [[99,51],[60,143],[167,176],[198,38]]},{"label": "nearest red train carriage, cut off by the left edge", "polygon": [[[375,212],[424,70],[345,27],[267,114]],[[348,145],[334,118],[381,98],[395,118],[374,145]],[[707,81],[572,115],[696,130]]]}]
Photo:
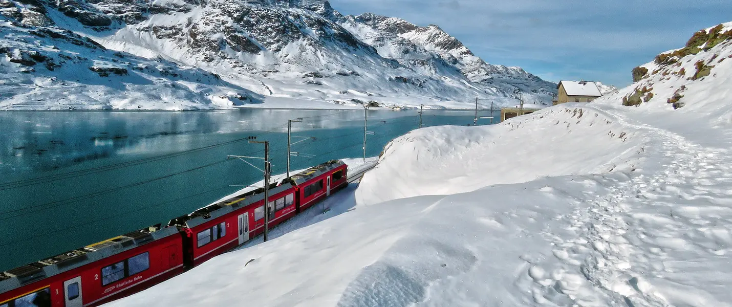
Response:
[{"label": "nearest red train carriage, cut off by the left edge", "polygon": [[0,307],[89,307],[182,273],[182,239],[160,225],[0,273]]}]

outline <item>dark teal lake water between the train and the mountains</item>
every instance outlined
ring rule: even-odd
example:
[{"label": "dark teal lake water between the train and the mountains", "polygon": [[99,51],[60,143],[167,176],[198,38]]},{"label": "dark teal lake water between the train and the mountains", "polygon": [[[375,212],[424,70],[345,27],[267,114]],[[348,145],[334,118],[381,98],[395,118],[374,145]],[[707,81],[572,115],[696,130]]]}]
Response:
[{"label": "dark teal lake water between the train and the mountains", "polygon": [[[258,181],[258,170],[226,159],[261,155],[262,146],[247,143],[248,136],[270,141],[273,172],[284,173],[288,119],[305,118],[294,135],[314,137],[294,145],[314,157],[293,157],[293,169],[362,156],[363,116],[363,110],[1,112],[0,270],[167,221],[238,189],[231,185]],[[465,111],[425,111],[422,118],[425,126],[472,120]],[[418,124],[417,111],[369,110],[375,134],[367,155]]]}]

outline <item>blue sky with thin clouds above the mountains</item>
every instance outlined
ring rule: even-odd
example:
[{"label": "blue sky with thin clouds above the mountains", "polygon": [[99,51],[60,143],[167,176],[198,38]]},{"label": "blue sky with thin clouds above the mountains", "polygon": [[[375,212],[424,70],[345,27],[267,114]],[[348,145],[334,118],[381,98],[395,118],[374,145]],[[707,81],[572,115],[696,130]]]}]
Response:
[{"label": "blue sky with thin clouds above the mountains", "polygon": [[695,31],[732,21],[732,0],[331,0],[346,15],[373,12],[436,24],[490,64],[545,80],[631,83],[630,70]]}]

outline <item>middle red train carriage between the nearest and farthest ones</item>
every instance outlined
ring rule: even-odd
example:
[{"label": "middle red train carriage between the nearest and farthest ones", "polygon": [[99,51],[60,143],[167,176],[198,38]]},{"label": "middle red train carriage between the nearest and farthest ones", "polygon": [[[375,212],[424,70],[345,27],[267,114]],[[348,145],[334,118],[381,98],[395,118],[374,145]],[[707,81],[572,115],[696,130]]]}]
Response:
[{"label": "middle red train carriage between the nearest and farthest ones", "polygon": [[[171,220],[170,226],[187,232],[187,267],[199,265],[264,232],[263,192],[264,189],[256,189]],[[270,185],[270,228],[295,215],[294,193],[291,183]]]}]

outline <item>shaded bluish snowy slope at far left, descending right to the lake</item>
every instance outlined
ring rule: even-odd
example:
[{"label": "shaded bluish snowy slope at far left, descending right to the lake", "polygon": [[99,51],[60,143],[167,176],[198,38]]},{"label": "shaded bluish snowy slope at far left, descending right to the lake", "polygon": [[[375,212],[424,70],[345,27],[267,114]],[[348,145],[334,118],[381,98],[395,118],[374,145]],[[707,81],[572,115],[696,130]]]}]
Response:
[{"label": "shaded bluish snowy slope at far left, descending right to the lake", "polygon": [[191,110],[260,101],[202,69],[114,52],[53,27],[38,3],[0,7],[0,110]]}]

